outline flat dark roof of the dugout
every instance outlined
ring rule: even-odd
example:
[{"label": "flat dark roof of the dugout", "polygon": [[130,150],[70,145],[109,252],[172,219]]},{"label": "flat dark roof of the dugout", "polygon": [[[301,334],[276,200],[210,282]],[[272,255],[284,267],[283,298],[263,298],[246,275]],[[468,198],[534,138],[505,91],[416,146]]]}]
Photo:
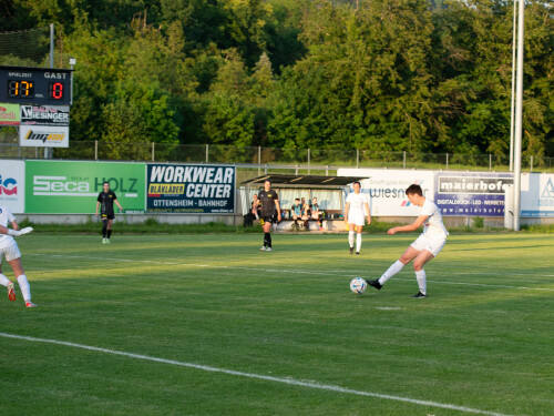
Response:
[{"label": "flat dark roof of the dugout", "polygon": [[266,180],[271,181],[273,187],[345,187],[348,184],[367,179],[367,176],[324,176],[324,175],[283,175],[268,173],[244,181],[242,185],[264,185]]}]

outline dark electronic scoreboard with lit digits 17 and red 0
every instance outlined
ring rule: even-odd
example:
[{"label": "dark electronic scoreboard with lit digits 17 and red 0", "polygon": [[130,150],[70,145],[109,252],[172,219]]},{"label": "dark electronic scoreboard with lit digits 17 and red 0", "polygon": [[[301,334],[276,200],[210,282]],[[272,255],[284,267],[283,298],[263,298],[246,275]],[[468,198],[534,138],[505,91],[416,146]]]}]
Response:
[{"label": "dark electronic scoreboard with lit digits 17 and red 0", "polygon": [[0,102],[70,105],[72,70],[0,65]]}]

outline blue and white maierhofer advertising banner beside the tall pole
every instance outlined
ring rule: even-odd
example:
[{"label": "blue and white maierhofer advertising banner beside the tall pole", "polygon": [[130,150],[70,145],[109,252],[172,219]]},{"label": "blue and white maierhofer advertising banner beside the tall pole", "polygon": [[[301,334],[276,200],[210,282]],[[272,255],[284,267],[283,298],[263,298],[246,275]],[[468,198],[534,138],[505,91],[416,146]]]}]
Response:
[{"label": "blue and white maierhofer advertising banner beside the tall pole", "polygon": [[447,216],[504,216],[510,173],[437,173],[434,203]]}]

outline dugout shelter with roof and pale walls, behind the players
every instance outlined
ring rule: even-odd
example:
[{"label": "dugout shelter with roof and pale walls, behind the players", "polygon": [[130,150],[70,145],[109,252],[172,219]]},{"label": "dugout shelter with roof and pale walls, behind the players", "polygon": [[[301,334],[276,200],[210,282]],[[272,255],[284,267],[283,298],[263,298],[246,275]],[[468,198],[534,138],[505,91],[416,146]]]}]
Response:
[{"label": "dugout shelter with roof and pale walls, behind the players", "polygon": [[[240,183],[242,212],[247,213],[253,195],[264,189],[266,180],[271,181],[271,189],[279,194],[279,204],[283,212],[283,222],[279,229],[289,226],[287,220],[290,219],[290,207],[295,199],[304,197],[311,203],[317,197],[320,210],[325,211],[325,220],[342,220],[345,213],[345,200],[350,191],[350,184],[362,181],[367,176],[324,176],[324,175],[287,175],[287,174],[265,174],[253,177]],[[330,223],[327,230],[332,230]]]}]

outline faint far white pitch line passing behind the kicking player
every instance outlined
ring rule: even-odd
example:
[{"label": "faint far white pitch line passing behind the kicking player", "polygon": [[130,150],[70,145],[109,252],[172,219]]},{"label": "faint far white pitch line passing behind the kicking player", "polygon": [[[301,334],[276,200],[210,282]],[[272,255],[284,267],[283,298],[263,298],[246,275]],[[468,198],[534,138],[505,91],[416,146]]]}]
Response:
[{"label": "faint far white pitch line passing behind the kicking player", "polygon": [[[130,262],[130,263],[151,263],[151,264],[165,264],[165,265],[181,265],[189,267],[213,267],[213,268],[235,268],[235,270],[246,270],[246,271],[261,271],[261,272],[275,272],[275,273],[291,273],[291,274],[309,274],[309,275],[321,275],[321,276],[342,276],[342,277],[357,277],[355,274],[341,274],[339,272],[316,272],[316,271],[301,271],[301,270],[287,270],[287,268],[263,268],[263,267],[246,267],[246,266],[219,266],[214,264],[193,264],[193,263],[177,263],[177,262],[160,262],[155,260],[132,260],[132,258],[117,258],[117,257],[94,257],[84,255],[64,255],[64,254],[25,254],[25,255],[37,255],[37,256],[48,256],[48,257],[63,257],[63,258],[88,258],[88,260],[102,260],[102,261],[113,261],[113,262]],[[449,274],[471,274],[471,273],[450,273]],[[480,273],[490,274],[490,273]],[[497,275],[497,274],[494,274]],[[520,274],[514,274],[520,276]],[[521,276],[525,276],[521,274]],[[533,275],[536,276],[536,275]],[[554,275],[545,275],[545,277],[554,277]],[[412,281],[409,278],[396,277],[397,281]],[[480,287],[499,287],[499,288],[515,288],[522,291],[547,291],[554,292],[554,288],[548,287],[527,287],[527,286],[511,286],[511,285],[492,285],[486,283],[468,283],[468,282],[444,282],[444,281],[430,281],[429,283],[443,284],[443,285],[462,285],[462,286],[480,286]]]}]

